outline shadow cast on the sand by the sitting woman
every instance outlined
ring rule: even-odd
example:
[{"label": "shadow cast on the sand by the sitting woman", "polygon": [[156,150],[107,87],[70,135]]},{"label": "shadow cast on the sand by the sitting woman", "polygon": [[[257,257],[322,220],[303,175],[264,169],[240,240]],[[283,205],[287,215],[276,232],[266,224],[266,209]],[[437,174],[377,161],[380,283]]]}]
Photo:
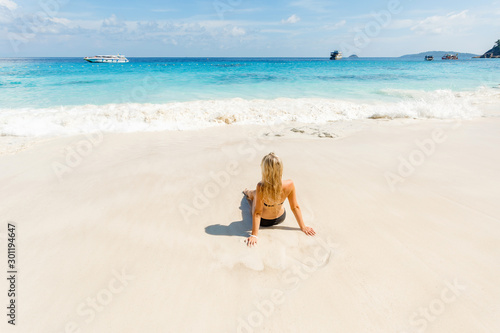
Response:
[{"label": "shadow cast on the sand by the sitting woman", "polygon": [[[247,199],[243,196],[240,202],[241,220],[231,222],[229,225],[212,224],[205,227],[205,232],[214,236],[241,236],[248,237],[252,231],[252,212]],[[299,230],[286,226],[262,227],[266,229]]]}]

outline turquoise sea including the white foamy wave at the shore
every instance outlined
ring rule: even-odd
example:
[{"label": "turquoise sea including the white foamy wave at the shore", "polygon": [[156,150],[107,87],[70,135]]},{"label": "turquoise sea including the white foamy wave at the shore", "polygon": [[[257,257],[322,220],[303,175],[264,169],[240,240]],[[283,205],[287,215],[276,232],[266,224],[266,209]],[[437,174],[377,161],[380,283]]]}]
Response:
[{"label": "turquoise sea including the white foamy wave at the shore", "polygon": [[[0,59],[0,132],[73,134],[252,123],[478,115],[498,97],[499,59]],[[142,119],[142,120],[141,120]]]}]

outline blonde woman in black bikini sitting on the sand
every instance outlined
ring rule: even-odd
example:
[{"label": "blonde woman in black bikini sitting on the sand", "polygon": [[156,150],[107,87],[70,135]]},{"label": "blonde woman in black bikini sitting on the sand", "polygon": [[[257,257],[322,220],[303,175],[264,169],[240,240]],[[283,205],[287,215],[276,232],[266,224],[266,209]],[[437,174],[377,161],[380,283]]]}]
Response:
[{"label": "blonde woman in black bikini sitting on the sand", "polygon": [[262,159],[260,167],[262,180],[257,184],[257,189],[243,191],[252,206],[252,234],[247,239],[247,245],[252,246],[257,243],[259,226],[270,227],[285,220],[286,212],[283,203],[286,198],[288,198],[290,209],[295,215],[300,230],[306,235],[315,235],[313,228],[307,227],[302,220],[293,181],[281,179],[283,175],[281,159],[274,153],[269,153]]}]

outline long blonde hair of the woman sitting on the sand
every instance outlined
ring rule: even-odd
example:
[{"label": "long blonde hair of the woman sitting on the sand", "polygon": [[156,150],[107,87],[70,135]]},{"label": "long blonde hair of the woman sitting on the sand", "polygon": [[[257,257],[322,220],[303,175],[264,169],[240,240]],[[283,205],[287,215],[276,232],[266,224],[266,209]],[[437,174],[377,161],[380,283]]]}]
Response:
[{"label": "long blonde hair of the woman sitting on the sand", "polygon": [[262,197],[265,202],[279,209],[277,204],[281,203],[283,162],[276,154],[269,153],[262,159],[260,168],[262,169]]}]

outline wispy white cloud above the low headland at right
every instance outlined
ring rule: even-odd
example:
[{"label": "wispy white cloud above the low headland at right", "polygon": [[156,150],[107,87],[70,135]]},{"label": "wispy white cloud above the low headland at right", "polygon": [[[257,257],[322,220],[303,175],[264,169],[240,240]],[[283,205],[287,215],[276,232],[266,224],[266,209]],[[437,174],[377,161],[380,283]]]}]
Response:
[{"label": "wispy white cloud above the low headland at right", "polygon": [[464,31],[474,24],[474,16],[468,10],[449,13],[444,16],[430,16],[411,27],[412,31],[422,35],[454,34]]}]

